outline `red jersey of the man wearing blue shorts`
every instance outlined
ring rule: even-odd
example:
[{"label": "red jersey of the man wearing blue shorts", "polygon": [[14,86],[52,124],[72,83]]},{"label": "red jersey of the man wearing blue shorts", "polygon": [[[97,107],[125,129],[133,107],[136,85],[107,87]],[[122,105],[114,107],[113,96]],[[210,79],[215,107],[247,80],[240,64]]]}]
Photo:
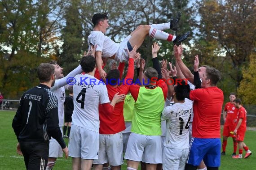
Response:
[{"label": "red jersey of the man wearing blue shorts", "polygon": [[221,109],[224,100],[221,89],[208,87],[190,91],[194,100],[192,136],[197,138],[221,138]]}]

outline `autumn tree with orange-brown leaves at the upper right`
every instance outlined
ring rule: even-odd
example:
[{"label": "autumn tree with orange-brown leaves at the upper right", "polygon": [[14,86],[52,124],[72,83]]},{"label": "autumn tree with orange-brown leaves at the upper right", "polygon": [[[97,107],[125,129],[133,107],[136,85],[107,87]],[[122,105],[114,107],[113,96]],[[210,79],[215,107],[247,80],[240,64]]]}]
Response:
[{"label": "autumn tree with orange-brown leaves at the upper right", "polygon": [[[218,68],[231,89],[242,80],[256,45],[255,0],[198,0],[191,7],[194,51],[202,63]],[[193,17],[192,17],[193,18]]]}]

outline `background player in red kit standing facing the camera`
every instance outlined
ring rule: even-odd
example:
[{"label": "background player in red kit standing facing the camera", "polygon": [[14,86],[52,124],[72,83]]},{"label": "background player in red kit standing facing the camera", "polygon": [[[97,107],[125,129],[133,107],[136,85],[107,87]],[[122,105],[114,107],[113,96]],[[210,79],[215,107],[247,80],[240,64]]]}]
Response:
[{"label": "background player in red kit standing facing the camera", "polygon": [[223,120],[225,122],[222,136],[223,136],[223,142],[222,142],[222,153],[221,155],[226,154],[226,146],[227,146],[227,139],[228,137],[233,138],[234,143],[234,152],[232,154],[233,156],[236,156],[236,150],[237,150],[237,140],[236,136],[234,134],[231,134],[234,130],[234,128],[237,125],[237,108],[234,106],[234,100],[236,98],[235,93],[230,93],[230,102],[227,102],[225,105],[225,108],[223,110]]}]

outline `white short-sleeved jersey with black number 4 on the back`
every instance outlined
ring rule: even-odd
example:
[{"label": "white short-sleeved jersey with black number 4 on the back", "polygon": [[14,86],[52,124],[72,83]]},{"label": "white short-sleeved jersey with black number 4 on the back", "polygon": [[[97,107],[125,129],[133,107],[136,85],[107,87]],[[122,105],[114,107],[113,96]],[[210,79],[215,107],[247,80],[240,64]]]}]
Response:
[{"label": "white short-sleeved jersey with black number 4 on the back", "polygon": [[99,103],[109,103],[106,85],[88,74],[75,76],[72,123],[99,132]]}]

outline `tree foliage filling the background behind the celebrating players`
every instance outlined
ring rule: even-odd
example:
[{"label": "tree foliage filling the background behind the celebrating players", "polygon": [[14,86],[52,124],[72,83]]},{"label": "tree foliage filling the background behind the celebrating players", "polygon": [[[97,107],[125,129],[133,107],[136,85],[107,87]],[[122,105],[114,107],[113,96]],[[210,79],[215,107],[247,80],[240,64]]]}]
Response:
[{"label": "tree foliage filling the background behind the celebrating players", "polygon": [[[184,42],[185,64],[192,70],[193,56],[199,55],[200,64],[221,71],[218,86],[224,93],[236,91],[240,82],[243,89],[245,68],[256,47],[255,6],[255,0],[1,0],[0,91],[15,97],[37,84],[36,67],[50,59],[65,74],[74,69],[88,50],[95,13],[108,13],[106,35],[119,43],[137,26],[169,22],[178,12],[180,29],[166,32],[190,31]],[[139,49],[146,67],[152,66],[154,41],[160,43],[159,55],[173,62],[171,42],[146,37]]]}]

